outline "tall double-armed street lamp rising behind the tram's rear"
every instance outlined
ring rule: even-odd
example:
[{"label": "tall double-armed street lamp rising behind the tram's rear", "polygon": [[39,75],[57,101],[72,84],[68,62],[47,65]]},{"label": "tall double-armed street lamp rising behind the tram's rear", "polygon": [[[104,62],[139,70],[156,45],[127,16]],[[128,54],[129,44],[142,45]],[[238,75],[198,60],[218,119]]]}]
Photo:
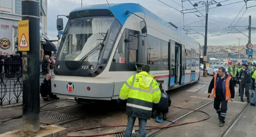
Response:
[{"label": "tall double-armed street lamp rising behind the tram's rear", "polygon": [[[204,56],[207,54],[207,25],[208,25],[208,11],[209,11],[209,5],[216,4],[218,2],[216,1],[200,1],[198,2],[201,5],[205,5],[205,10],[206,10],[206,19],[205,19],[205,45],[204,45]],[[195,3],[193,6],[198,6],[198,3]],[[218,3],[216,6],[221,6],[220,3]],[[207,77],[206,73],[206,61],[204,61],[204,77]]]}]

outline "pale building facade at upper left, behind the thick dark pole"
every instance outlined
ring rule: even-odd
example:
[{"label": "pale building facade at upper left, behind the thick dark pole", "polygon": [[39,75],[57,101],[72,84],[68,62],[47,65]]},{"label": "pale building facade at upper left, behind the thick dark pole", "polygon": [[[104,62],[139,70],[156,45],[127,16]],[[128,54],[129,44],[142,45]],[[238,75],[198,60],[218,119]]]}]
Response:
[{"label": "pale building facade at upper left, behind the thick dark pole", "polygon": [[[0,0],[0,51],[17,51],[22,0]],[[47,0],[40,0],[40,38],[47,37]]]}]

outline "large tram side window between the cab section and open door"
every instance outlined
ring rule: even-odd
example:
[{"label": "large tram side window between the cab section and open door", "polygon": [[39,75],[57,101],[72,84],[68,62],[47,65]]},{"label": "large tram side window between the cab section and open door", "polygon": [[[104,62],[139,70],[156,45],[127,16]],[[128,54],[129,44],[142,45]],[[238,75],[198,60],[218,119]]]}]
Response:
[{"label": "large tram side window between the cab section and open door", "polygon": [[[167,44],[168,45],[168,44]],[[161,40],[148,35],[148,64],[161,64]]]}]

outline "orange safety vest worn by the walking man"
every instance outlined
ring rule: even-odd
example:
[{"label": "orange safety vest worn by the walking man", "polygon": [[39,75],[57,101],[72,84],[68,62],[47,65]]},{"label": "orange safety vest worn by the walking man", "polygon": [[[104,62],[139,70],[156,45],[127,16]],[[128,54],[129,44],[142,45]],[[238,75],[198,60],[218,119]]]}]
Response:
[{"label": "orange safety vest worn by the walking man", "polygon": [[[213,87],[213,98],[216,98],[216,82],[217,82],[217,76],[218,74],[215,74],[214,76],[214,87]],[[224,88],[224,92],[226,93],[226,100],[230,100],[231,99],[231,92],[229,89],[229,81],[231,80],[230,76],[227,76],[225,79],[225,88]]]}]

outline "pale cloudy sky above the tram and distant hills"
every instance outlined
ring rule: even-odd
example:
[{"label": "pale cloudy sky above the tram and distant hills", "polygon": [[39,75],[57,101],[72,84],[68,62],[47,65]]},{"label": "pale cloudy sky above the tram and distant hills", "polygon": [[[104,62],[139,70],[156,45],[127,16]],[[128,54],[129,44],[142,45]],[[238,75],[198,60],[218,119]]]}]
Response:
[{"label": "pale cloudy sky above the tram and distant hills", "polygon": [[[82,0],[83,6],[107,4],[107,0]],[[247,3],[245,3],[247,1]],[[108,0],[109,3],[139,3],[166,22],[172,22],[179,30],[187,33],[204,45],[206,6],[193,6],[198,0]],[[205,0],[206,2],[206,0]],[[252,27],[256,28],[256,0],[218,0],[222,6],[209,5],[207,45],[212,46],[238,46],[248,43],[249,16],[252,16]],[[251,6],[251,7],[250,7]],[[81,0],[49,0],[47,11],[48,38],[57,39],[57,15],[69,13],[81,7]],[[247,7],[247,8],[246,8]],[[183,13],[182,13],[182,10]],[[64,24],[67,18],[64,16]],[[184,23],[184,25],[183,25]],[[183,29],[184,28],[184,29]],[[252,30],[252,44],[256,44],[256,29]]]}]

